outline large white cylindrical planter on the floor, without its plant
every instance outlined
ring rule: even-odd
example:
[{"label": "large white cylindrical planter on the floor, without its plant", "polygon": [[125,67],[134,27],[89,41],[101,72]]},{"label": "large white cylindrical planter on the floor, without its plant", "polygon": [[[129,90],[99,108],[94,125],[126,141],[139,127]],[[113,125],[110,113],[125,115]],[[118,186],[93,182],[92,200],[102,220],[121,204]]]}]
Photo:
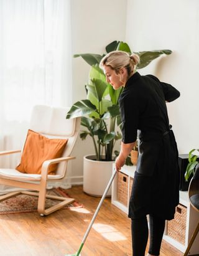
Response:
[{"label": "large white cylindrical planter on the floor, without its plant", "polygon": [[[96,161],[95,155],[83,158],[83,191],[90,196],[103,195],[112,174],[114,161]],[[111,187],[106,196],[111,196]]]}]

